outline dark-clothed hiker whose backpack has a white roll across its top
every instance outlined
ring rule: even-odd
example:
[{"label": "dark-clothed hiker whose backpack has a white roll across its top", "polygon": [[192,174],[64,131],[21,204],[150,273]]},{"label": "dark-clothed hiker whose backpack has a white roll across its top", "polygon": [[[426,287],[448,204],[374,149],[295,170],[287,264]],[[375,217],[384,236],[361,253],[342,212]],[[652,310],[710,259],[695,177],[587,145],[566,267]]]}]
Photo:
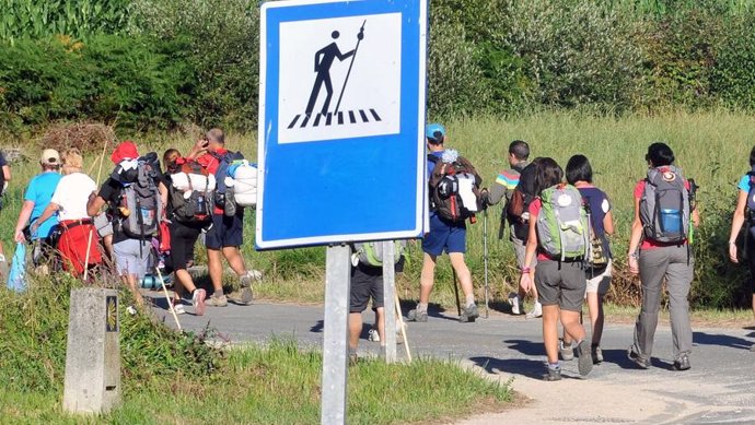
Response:
[{"label": "dark-clothed hiker whose backpack has a white roll across its top", "polygon": [[182,157],[176,149],[165,151],[163,164],[164,184],[169,188],[170,255],[176,276],[173,308],[176,314],[185,312],[183,293],[186,291],[191,296],[195,315],[202,316],[207,292],[194,284],[187,269],[194,262],[194,247],[199,235],[210,226],[214,176],[207,174],[196,161]]}]

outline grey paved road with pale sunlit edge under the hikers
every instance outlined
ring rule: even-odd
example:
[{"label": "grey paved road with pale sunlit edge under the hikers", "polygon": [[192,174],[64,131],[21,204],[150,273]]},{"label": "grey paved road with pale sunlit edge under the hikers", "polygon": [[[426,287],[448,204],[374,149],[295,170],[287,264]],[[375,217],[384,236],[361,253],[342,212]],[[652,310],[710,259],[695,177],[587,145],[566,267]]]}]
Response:
[{"label": "grey paved road with pale sunlit edge under the hikers", "polygon": [[[187,307],[187,310],[191,310]],[[165,316],[165,310],[158,310]],[[253,306],[208,308],[202,317],[179,317],[187,329],[209,322],[233,342],[266,341],[272,335],[295,338],[303,346],[320,347],[323,308],[258,303]],[[364,315],[365,322],[372,314]],[[172,318],[165,317],[171,323]],[[367,328],[365,328],[367,329]],[[451,315],[431,311],[427,323],[409,323],[414,353],[458,359],[478,367],[491,379],[508,381],[531,399],[522,409],[475,416],[460,424],[513,421],[564,423],[755,423],[755,332],[747,329],[695,329],[693,368],[671,369],[671,331],[659,327],[653,367],[640,370],[626,358],[632,327],[607,324],[605,362],[588,379],[579,379],[577,362],[566,362],[565,375],[576,379],[539,380],[545,354],[541,320],[495,314],[475,323],[460,323]],[[375,355],[378,344],[360,342],[360,354]],[[402,353],[399,346],[399,353]]]}]

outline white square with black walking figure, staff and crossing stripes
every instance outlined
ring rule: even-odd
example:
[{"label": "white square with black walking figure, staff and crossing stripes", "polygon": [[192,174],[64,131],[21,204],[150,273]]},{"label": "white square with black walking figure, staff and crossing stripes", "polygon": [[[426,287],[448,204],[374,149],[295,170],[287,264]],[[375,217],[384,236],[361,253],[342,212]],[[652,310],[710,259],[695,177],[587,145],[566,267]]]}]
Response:
[{"label": "white square with black walking figure, staff and crossing stripes", "polygon": [[280,24],[278,142],[396,134],[400,13]]}]

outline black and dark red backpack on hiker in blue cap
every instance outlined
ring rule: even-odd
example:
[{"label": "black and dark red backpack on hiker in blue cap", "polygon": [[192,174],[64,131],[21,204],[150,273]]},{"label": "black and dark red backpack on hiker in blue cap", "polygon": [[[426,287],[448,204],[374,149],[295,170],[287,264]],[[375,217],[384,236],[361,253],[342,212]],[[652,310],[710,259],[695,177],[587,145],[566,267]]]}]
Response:
[{"label": "black and dark red backpack on hiker in blue cap", "polygon": [[452,222],[474,217],[480,210],[483,179],[472,163],[453,150],[446,150],[442,158],[429,154],[428,161],[435,164],[429,181],[430,209]]}]

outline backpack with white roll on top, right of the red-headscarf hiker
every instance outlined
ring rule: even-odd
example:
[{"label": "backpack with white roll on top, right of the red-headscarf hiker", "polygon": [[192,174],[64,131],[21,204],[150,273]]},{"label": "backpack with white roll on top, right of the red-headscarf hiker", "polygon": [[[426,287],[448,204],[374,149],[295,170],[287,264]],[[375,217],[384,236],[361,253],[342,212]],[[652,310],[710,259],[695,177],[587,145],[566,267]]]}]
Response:
[{"label": "backpack with white roll on top, right of the red-headscarf hiker", "polygon": [[207,223],[212,219],[216,179],[196,161],[186,161],[171,175],[172,216],[181,223]]}]

